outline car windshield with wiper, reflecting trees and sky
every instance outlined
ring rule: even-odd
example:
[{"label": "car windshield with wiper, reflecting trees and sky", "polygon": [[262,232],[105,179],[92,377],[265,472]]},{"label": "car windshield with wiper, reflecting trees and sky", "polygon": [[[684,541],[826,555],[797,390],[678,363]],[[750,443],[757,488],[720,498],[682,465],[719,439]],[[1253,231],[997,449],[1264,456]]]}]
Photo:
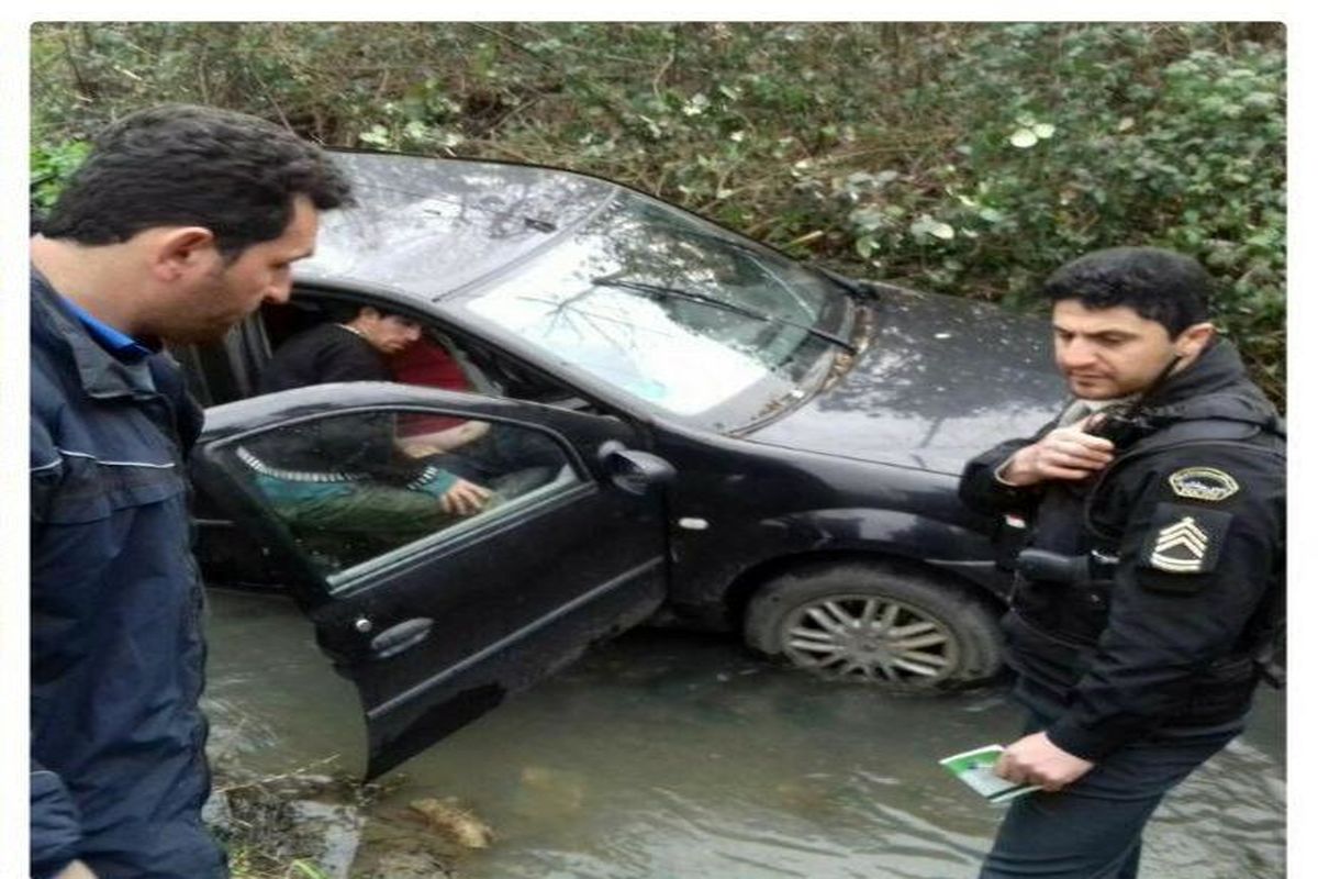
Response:
[{"label": "car windshield with wiper, reflecting trees and sky", "polygon": [[692,215],[619,191],[467,308],[558,360],[716,430],[803,395],[845,341],[830,283]]}]

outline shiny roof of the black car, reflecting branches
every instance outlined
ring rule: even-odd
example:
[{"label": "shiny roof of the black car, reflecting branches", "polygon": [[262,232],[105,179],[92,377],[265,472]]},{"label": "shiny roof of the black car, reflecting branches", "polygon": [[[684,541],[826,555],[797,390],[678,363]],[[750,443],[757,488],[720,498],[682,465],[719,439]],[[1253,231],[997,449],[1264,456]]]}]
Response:
[{"label": "shiny roof of the black car, reflecting branches", "polygon": [[622,187],[510,162],[331,150],[356,206],[322,216],[299,279],[439,299],[568,235]]}]

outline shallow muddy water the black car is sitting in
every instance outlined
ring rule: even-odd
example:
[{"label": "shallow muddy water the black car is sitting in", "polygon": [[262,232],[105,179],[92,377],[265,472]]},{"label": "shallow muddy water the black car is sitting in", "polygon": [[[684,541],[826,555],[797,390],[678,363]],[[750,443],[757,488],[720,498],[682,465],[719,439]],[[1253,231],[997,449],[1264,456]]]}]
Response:
[{"label": "shallow muddy water the black car is sitting in", "polygon": [[[285,602],[214,597],[210,681],[212,751],[268,772],[361,766],[353,691]],[[468,879],[969,879],[1000,812],[936,760],[1017,723],[996,691],[884,697],[646,631],[403,764],[390,796],[456,796],[494,828]],[[1284,704],[1268,691],[1251,730],[1160,809],[1141,874],[1280,878],[1284,804]]]}]

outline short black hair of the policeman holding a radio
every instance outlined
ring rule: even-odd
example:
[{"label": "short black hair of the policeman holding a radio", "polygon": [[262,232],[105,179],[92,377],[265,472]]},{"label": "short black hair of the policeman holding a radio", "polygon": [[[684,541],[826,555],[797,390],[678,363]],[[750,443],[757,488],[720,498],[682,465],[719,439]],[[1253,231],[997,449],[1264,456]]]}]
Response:
[{"label": "short black hair of the policeman holding a radio", "polygon": [[1054,303],[1078,299],[1086,308],[1127,306],[1174,339],[1209,319],[1210,289],[1209,273],[1188,256],[1161,248],[1111,248],[1057,269],[1040,294]]}]

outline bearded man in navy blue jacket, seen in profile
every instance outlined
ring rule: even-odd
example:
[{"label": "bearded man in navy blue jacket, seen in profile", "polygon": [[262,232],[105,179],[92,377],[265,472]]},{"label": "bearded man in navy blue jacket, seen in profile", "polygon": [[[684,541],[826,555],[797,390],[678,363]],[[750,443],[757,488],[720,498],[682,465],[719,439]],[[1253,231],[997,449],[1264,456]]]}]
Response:
[{"label": "bearded man in navy blue jacket, seen in profile", "polygon": [[105,129],[32,240],[32,845],[38,879],[214,879],[202,592],[185,457],[200,430],[163,343],[283,302],[328,159],[240,113]]}]

